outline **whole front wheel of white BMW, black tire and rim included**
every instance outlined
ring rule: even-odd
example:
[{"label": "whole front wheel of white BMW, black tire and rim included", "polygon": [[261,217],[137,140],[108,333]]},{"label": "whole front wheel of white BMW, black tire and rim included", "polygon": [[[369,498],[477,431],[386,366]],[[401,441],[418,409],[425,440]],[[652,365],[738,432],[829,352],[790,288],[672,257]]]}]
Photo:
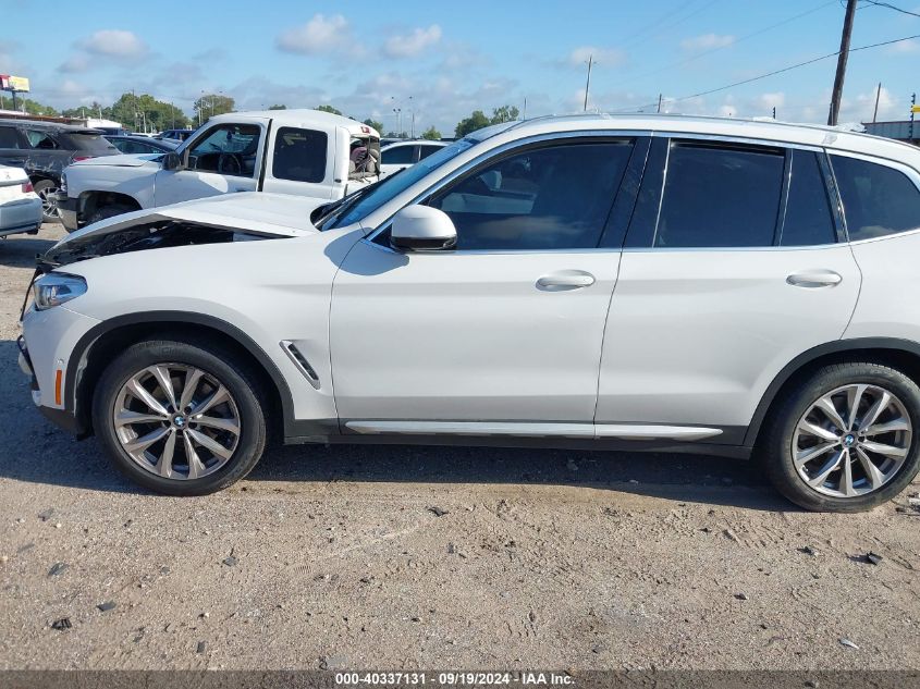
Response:
[{"label": "whole front wheel of white BMW, black tire and rim included", "polygon": [[205,495],[238,481],[266,446],[258,377],[207,340],[130,346],[102,372],[93,426],[114,466],[168,495]]}]

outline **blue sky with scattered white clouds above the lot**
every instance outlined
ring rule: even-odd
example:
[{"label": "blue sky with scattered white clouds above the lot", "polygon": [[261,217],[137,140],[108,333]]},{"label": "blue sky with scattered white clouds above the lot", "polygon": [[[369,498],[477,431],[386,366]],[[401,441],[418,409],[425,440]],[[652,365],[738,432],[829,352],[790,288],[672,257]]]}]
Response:
[{"label": "blue sky with scattered white clouds above the lot", "polygon": [[[918,0],[891,0],[920,13]],[[27,76],[56,107],[149,93],[191,113],[203,90],[240,109],[331,103],[346,114],[443,133],[474,109],[527,115],[635,110],[826,119],[835,60],[699,98],[839,47],[841,0],[517,0],[334,3],[0,0],[0,73]],[[805,16],[796,15],[805,14]],[[12,17],[12,21],[10,21]],[[50,19],[50,21],[49,21]],[[778,26],[775,26],[781,24]],[[772,28],[771,28],[772,27]],[[920,19],[862,0],[852,45],[920,34]],[[852,53],[842,121],[906,119],[920,90],[920,40]],[[683,98],[683,99],[682,99]],[[682,99],[682,100],[677,100]]]}]

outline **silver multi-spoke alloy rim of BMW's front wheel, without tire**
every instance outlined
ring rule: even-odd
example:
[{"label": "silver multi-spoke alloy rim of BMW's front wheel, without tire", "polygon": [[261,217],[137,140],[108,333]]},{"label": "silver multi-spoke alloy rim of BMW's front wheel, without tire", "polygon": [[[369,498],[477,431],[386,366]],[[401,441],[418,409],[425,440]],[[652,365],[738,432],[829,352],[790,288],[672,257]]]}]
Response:
[{"label": "silver multi-spoke alloy rim of BMW's front wheel, without tire", "polygon": [[132,376],[112,408],[112,423],[131,459],[167,479],[198,479],[230,462],[242,423],[230,391],[212,374],[158,364]]}]

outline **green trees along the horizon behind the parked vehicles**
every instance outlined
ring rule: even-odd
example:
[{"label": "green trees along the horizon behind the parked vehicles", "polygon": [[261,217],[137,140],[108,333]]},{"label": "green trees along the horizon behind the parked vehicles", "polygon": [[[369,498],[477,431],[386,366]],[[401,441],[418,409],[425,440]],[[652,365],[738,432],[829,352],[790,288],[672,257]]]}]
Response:
[{"label": "green trees along the horizon behind the parked vehicles", "polygon": [[[3,96],[3,101],[0,102],[0,109],[7,107],[12,107],[12,99]],[[28,114],[74,119],[98,118],[100,120],[120,122],[122,126],[134,132],[162,132],[163,130],[196,127],[207,122],[210,118],[235,111],[236,101],[224,94],[204,94],[193,103],[195,114],[192,118],[187,116],[182,109],[171,102],[158,100],[149,94],[138,96],[133,91],[122,94],[111,106],[102,106],[94,101],[91,106],[79,106],[58,111],[50,106],[45,106],[30,98],[19,98],[17,107]],[[272,103],[268,109],[286,110],[287,106],[284,103]],[[341,110],[330,104],[319,104],[315,110],[339,115],[343,114]],[[482,110],[474,110],[468,118],[464,118],[457,123],[454,128],[454,136],[462,138],[476,130],[517,120],[518,115],[519,111],[515,106],[494,108],[491,116],[487,115]],[[363,124],[373,127],[380,132],[381,136],[408,138],[406,132],[388,131],[382,122],[378,122],[371,118],[364,120]],[[420,136],[425,139],[438,140],[441,138],[441,132],[431,125]]]}]

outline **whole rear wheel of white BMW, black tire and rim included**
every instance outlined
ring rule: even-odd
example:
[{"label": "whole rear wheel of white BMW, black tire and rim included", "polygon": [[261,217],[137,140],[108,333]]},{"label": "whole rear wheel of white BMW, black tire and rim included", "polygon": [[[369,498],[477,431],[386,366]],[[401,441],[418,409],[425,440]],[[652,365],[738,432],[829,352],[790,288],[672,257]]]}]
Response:
[{"label": "whole rear wheel of white BMW, black tire and rim included", "polygon": [[823,367],[784,393],[760,443],[776,489],[814,512],[863,512],[920,469],[920,387],[881,364]]}]

